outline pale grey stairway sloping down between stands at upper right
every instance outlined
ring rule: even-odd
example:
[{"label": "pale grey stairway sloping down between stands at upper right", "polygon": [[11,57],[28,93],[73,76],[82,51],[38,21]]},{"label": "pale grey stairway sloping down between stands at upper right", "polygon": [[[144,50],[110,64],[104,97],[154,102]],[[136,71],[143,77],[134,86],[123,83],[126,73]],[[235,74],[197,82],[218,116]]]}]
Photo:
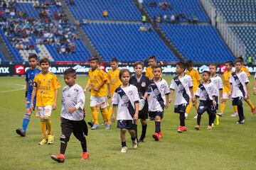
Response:
[{"label": "pale grey stairway sloping down between stands at upper right", "polygon": [[210,21],[212,22],[213,26],[215,26],[219,30],[220,35],[222,35],[223,40],[225,40],[228,47],[230,47],[230,50],[233,52],[233,55],[235,55],[235,57],[245,56],[245,45],[239,40],[235,33],[233,33],[227,21],[223,17],[223,13],[221,13],[221,11],[218,11],[218,9],[215,8],[212,0],[200,1],[206,10],[206,13],[208,13],[208,16],[210,17]]}]

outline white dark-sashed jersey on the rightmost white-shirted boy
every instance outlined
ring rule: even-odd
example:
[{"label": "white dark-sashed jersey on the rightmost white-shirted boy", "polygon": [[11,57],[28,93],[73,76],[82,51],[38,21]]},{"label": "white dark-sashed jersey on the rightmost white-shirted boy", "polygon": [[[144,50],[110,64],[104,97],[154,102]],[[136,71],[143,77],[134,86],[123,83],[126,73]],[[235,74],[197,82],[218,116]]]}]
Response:
[{"label": "white dark-sashed jersey on the rightmost white-shirted boy", "polygon": [[[233,77],[235,74],[235,78]],[[247,90],[245,84],[249,83],[248,76],[245,72],[236,73],[233,72],[230,75],[230,84],[232,86],[232,98],[247,96]],[[236,80],[235,80],[236,79]]]}]

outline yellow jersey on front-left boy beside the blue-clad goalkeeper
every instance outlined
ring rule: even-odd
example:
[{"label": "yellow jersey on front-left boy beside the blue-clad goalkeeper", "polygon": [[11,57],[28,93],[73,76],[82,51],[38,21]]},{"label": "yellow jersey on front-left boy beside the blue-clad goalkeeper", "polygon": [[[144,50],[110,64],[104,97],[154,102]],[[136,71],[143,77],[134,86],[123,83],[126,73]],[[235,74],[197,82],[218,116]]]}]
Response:
[{"label": "yellow jersey on front-left boy beside the blue-clad goalkeeper", "polygon": [[55,100],[55,90],[60,88],[60,82],[55,74],[42,72],[34,78],[36,91],[36,106],[53,106]]}]

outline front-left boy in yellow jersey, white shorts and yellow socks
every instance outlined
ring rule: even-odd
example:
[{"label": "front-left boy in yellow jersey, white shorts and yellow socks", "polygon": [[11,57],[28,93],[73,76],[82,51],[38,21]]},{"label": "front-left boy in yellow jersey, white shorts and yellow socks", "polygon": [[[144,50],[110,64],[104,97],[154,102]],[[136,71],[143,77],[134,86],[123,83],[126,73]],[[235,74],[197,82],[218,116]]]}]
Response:
[{"label": "front-left boy in yellow jersey, white shorts and yellow socks", "polygon": [[[33,80],[30,109],[33,111],[33,100],[36,96],[36,115],[40,117],[41,131],[43,133],[43,140],[39,142],[39,145],[45,145],[46,143],[53,144],[54,142],[50,115],[52,110],[57,108],[60,83],[55,74],[48,72],[50,67],[48,58],[41,59],[39,64],[42,72],[37,74]],[[48,137],[46,126],[48,128]]]}]

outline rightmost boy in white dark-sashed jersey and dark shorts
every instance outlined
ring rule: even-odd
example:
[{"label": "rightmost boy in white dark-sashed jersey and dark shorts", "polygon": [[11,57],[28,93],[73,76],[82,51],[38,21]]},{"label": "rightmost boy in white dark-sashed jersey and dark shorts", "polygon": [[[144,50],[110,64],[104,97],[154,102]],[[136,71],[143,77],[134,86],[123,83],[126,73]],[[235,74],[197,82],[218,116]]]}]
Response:
[{"label": "rightmost boy in white dark-sashed jersey and dark shorts", "polygon": [[232,97],[233,106],[238,106],[239,120],[236,124],[242,125],[245,123],[245,116],[243,114],[242,99],[247,100],[249,94],[249,79],[247,74],[242,71],[242,61],[235,61],[235,72],[230,76],[230,91],[228,96]]}]

